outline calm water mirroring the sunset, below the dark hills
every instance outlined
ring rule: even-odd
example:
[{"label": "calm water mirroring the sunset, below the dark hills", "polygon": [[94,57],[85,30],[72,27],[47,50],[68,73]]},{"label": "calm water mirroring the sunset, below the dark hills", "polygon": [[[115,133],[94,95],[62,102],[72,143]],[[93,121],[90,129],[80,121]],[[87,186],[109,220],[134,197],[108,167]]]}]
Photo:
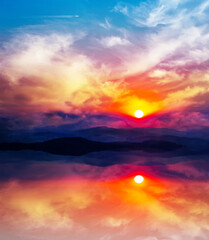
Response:
[{"label": "calm water mirroring the sunset, below the dark hills", "polygon": [[[206,156],[0,158],[1,240],[208,240]],[[134,182],[137,174],[143,183]]]}]

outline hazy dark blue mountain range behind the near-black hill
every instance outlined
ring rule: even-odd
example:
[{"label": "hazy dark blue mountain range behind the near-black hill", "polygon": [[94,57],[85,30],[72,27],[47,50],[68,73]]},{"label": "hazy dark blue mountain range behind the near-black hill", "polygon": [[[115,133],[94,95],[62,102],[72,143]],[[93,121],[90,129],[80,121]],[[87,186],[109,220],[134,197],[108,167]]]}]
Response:
[{"label": "hazy dark blue mountain range behind the near-black hill", "polygon": [[142,142],[165,136],[195,138],[209,140],[209,128],[178,131],[167,128],[108,128],[95,127],[74,129],[71,125],[45,126],[25,130],[9,130],[0,128],[1,142],[42,142],[55,138],[83,137],[99,142]]}]

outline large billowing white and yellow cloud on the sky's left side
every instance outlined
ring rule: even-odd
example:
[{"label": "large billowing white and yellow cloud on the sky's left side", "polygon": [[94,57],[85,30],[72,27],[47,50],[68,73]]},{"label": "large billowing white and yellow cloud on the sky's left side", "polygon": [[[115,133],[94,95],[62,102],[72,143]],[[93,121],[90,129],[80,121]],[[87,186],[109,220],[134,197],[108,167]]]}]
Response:
[{"label": "large billowing white and yellow cloud on the sky's left side", "polygon": [[77,114],[76,107],[82,103],[87,109],[108,99],[105,69],[100,71],[92,59],[75,52],[76,40],[71,34],[23,34],[5,43],[0,52],[2,111],[13,106],[13,112],[22,108],[22,112],[66,110]]}]

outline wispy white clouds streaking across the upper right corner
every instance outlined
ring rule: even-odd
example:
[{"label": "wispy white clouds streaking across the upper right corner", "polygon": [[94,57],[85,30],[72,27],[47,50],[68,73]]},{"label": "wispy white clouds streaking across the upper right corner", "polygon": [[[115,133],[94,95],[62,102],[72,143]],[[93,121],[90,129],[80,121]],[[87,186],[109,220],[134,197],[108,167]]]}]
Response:
[{"label": "wispy white clouds streaking across the upper right corner", "polygon": [[[123,14],[137,27],[156,27],[155,33],[144,31],[144,35],[139,36],[146,43],[138,51],[135,48],[131,54],[132,61],[127,59],[128,73],[144,72],[163,63],[176,68],[180,64],[181,67],[192,64],[198,66],[207,61],[208,26],[204,19],[198,22],[199,9],[206,3],[202,1],[193,8],[181,1],[150,1],[142,2],[140,6],[125,3],[116,5],[116,11],[126,6],[128,10]],[[160,27],[162,24],[164,26]]]}]

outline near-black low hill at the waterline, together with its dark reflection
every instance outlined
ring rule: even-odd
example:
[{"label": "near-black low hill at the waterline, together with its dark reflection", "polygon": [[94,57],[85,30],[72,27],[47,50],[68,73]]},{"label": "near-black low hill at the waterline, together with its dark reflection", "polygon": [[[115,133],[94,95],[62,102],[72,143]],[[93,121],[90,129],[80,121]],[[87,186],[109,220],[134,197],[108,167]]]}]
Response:
[{"label": "near-black low hill at the waterline, together with its dark reflection", "polygon": [[164,140],[147,140],[143,142],[98,142],[82,137],[57,138],[34,143],[1,143],[2,151],[35,150],[57,155],[80,156],[99,151],[133,151],[168,152],[182,148],[181,144]]}]

